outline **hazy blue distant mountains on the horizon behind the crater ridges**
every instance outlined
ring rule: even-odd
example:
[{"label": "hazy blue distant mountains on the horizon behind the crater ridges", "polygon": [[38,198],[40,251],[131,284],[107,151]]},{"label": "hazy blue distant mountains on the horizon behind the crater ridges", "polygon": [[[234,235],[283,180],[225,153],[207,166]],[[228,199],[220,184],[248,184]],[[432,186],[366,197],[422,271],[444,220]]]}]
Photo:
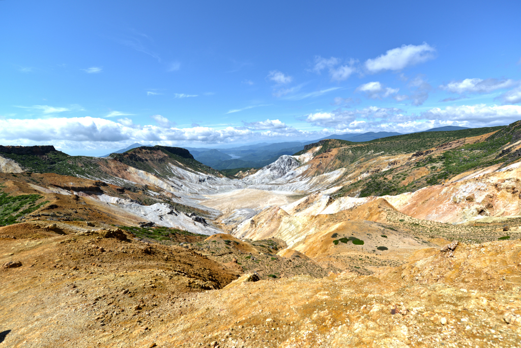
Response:
[{"label": "hazy blue distant mountains on the horizon behind the crater ridges", "polygon": [[[467,127],[445,126],[431,128],[424,132],[453,131],[467,129]],[[418,132],[419,133],[419,132]],[[237,168],[262,168],[273,163],[282,155],[293,155],[304,150],[307,144],[316,143],[325,139],[339,139],[351,142],[365,142],[375,139],[387,138],[388,136],[402,135],[398,132],[367,132],[351,134],[331,134],[325,138],[306,142],[293,141],[281,143],[258,143],[252,145],[242,145],[229,148],[209,148],[209,147],[185,147],[194,158],[201,163],[218,169],[237,169]],[[146,146],[134,143],[126,148],[115,151],[116,154],[125,153],[133,148]],[[109,155],[101,156],[108,157]]]}]

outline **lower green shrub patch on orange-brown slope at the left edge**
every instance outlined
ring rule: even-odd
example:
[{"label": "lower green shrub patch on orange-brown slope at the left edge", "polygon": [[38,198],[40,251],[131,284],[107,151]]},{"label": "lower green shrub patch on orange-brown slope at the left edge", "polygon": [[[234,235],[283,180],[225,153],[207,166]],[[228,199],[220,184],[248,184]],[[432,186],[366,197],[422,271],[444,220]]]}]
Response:
[{"label": "lower green shrub patch on orange-brown slope at the left edge", "polygon": [[48,201],[36,204],[43,196],[39,194],[22,194],[10,196],[0,194],[0,225],[13,225],[16,219],[40,209]]}]

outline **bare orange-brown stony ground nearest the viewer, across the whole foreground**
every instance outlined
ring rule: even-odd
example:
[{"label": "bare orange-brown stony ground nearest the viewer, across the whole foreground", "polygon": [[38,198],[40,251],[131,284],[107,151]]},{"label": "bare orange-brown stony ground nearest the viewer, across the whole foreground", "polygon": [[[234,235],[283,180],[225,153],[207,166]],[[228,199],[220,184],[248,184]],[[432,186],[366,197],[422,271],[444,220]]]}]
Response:
[{"label": "bare orange-brown stony ground nearest the viewer, across the whole foreground", "polygon": [[426,248],[371,276],[231,282],[238,273],[190,248],[124,241],[116,230],[28,237],[0,243],[2,264],[22,264],[2,271],[6,347],[521,341],[519,240]]}]

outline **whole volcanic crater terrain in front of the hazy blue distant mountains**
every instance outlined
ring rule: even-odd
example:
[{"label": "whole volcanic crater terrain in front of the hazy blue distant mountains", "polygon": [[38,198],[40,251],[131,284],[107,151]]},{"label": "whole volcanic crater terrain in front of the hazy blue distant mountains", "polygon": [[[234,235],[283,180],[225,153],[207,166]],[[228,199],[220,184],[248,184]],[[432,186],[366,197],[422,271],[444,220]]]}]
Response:
[{"label": "whole volcanic crater terrain in front of the hazy blue distant mountains", "polygon": [[0,346],[518,346],[520,129],[235,177],[175,147],[0,146]]}]

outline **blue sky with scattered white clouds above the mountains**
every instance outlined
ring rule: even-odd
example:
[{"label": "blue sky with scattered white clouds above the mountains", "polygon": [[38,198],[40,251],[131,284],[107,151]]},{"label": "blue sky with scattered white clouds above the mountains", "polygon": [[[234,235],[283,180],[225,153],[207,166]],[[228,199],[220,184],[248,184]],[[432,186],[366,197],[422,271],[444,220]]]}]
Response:
[{"label": "blue sky with scattered white clouds above the mountains", "polygon": [[0,144],[102,155],[521,119],[521,2],[358,3],[2,0]]}]

